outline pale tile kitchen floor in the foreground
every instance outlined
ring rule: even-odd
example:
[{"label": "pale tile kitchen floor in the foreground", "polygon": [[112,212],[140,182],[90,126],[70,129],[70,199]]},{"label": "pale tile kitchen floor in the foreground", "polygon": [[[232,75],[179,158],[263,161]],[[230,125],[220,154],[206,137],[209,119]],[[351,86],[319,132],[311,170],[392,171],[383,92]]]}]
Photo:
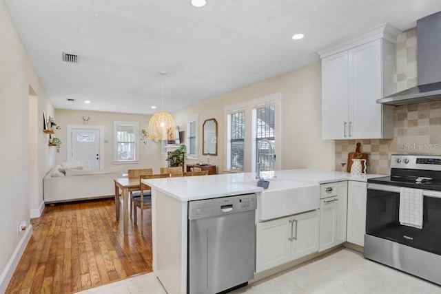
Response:
[{"label": "pale tile kitchen floor in the foreground", "polygon": [[[165,294],[153,273],[92,288],[81,293],[149,293]],[[391,269],[362,254],[342,249],[300,264],[277,275],[233,291],[234,294],[273,293],[441,293],[441,286]]]}]

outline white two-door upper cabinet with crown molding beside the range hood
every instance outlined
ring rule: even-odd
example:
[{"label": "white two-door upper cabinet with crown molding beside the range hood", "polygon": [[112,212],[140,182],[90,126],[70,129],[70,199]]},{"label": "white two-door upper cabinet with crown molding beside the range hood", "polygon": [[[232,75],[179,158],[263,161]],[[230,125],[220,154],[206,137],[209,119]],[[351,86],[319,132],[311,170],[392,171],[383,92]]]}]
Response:
[{"label": "white two-door upper cabinet with crown molding beside the range hood", "polygon": [[393,107],[376,100],[393,92],[396,37],[381,25],[320,50],[322,138],[393,138]]}]

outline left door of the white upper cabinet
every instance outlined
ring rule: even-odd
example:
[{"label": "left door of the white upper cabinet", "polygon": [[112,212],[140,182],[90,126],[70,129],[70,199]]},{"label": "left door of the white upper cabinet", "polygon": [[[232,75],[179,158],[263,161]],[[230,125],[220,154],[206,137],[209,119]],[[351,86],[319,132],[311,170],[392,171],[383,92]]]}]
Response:
[{"label": "left door of the white upper cabinet", "polygon": [[348,52],[322,59],[322,139],[347,138]]}]

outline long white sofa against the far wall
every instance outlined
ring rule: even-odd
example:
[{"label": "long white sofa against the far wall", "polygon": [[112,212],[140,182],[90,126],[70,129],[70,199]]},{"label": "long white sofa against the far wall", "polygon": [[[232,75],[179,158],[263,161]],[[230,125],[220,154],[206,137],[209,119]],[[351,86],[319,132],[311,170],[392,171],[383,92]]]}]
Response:
[{"label": "long white sofa against the far wall", "polygon": [[57,166],[43,178],[43,199],[45,203],[55,203],[112,197],[113,180],[122,177],[121,166],[99,170]]}]

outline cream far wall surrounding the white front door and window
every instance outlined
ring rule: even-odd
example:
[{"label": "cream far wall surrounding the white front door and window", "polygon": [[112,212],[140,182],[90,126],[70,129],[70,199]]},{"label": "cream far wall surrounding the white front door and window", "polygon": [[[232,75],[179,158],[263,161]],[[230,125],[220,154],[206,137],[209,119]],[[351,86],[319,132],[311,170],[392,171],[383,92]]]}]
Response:
[{"label": "cream far wall surrounding the white front door and window", "polygon": [[[114,166],[114,121],[133,121],[139,123],[139,131],[147,129],[150,116],[145,114],[121,114],[116,112],[88,112],[82,110],[56,109],[55,121],[61,129],[55,130],[55,135],[62,142],[60,153],[55,154],[55,162],[67,160],[67,125],[83,125],[83,116],[89,116],[88,125],[104,126],[104,167]],[[56,149],[52,147],[52,149]],[[160,167],[167,166],[165,157],[161,156],[161,143],[147,140],[147,145],[139,141],[139,163],[124,164],[124,169],[152,168],[154,172],[159,172]]]}]

